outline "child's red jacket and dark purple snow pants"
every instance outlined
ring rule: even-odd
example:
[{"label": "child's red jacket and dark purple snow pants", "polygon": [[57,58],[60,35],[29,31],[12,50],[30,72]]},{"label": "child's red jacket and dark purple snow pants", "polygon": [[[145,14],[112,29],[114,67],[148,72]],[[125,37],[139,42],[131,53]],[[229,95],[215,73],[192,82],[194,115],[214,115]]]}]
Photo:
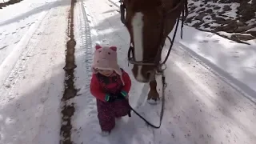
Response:
[{"label": "child's red jacket and dark purple snow pants", "polygon": [[[125,85],[122,84],[125,82]],[[122,70],[122,80],[114,72],[110,77],[102,74],[93,74],[90,82],[90,92],[97,98],[98,120],[102,131],[111,131],[115,126],[115,118],[126,116],[130,112],[130,106],[126,99],[117,99],[114,102],[106,102],[106,94],[115,94],[130,91],[131,81],[129,75]]]}]

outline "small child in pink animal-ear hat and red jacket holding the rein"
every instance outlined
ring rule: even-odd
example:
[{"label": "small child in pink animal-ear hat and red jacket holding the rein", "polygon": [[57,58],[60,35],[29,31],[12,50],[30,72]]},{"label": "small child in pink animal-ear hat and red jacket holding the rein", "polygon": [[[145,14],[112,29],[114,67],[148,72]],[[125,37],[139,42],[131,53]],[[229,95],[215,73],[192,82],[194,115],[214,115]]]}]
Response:
[{"label": "small child in pink animal-ear hat and red jacket holding the rein", "polygon": [[115,118],[129,114],[129,75],[118,66],[117,47],[95,46],[90,93],[97,99],[98,120],[102,134],[110,134]]}]

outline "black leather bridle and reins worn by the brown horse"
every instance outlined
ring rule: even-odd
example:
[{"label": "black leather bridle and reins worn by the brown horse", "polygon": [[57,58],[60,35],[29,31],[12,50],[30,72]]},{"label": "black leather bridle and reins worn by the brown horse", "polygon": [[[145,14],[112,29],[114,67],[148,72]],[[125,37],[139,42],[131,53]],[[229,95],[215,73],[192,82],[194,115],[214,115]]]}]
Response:
[{"label": "black leather bridle and reins worn by the brown horse", "polygon": [[[125,18],[126,6],[124,5],[123,0],[120,0],[119,2],[120,2],[121,22],[123,24],[125,24],[125,22],[126,22],[126,18]],[[187,0],[180,0],[180,2],[178,3],[177,6],[175,6],[173,9],[170,9],[168,11],[165,11],[165,9],[164,9],[165,7],[162,6],[163,7],[163,14],[164,14],[163,22],[162,22],[162,37],[165,34],[166,17],[168,16],[168,14],[170,14],[174,10],[177,10],[180,6],[182,6],[182,26],[181,26],[181,38],[182,38],[182,33],[183,33],[182,28],[183,28],[186,16],[188,14]],[[166,58],[164,59],[163,62],[161,62],[161,60],[158,60],[158,57],[160,57],[160,59],[161,59],[161,53],[162,53],[163,46],[160,49],[158,49],[158,53],[156,55],[156,58],[154,58],[154,62],[150,62],[149,60],[148,61],[140,61],[140,62],[135,61],[134,60],[134,46],[132,46],[132,42],[130,42],[130,48],[128,50],[128,61],[131,64],[135,64],[135,65],[138,65],[138,66],[145,66],[145,65],[146,66],[156,66],[157,67],[156,71],[158,72],[158,74],[162,75],[162,107],[161,107],[161,113],[160,113],[159,126],[154,126],[152,123],[148,122],[146,120],[146,118],[143,118],[141,114],[138,114],[138,112],[136,110],[134,110],[129,104],[130,110],[134,111],[134,113],[137,114],[139,118],[142,118],[142,120],[145,121],[146,124],[156,128],[156,129],[160,128],[160,126],[162,124],[162,117],[163,117],[163,114],[164,114],[165,90],[166,90],[166,77],[164,75],[164,70],[166,70],[166,61],[168,60],[168,58],[170,56],[170,50],[172,49],[172,46],[174,45],[174,39],[176,37],[177,30],[178,30],[179,18],[181,18],[181,16],[179,16],[176,19],[176,26],[175,26],[173,38],[170,39],[170,37],[167,34],[167,38],[170,41],[170,47],[169,47],[169,50],[167,52]],[[166,38],[165,39],[164,38],[160,39],[160,43],[162,43],[163,40],[166,40]],[[130,55],[132,55],[132,56],[130,57]],[[128,65],[129,65],[129,63],[128,63]],[[164,68],[162,68],[162,66],[164,66]],[[130,114],[128,114],[128,115],[130,117]]]}]

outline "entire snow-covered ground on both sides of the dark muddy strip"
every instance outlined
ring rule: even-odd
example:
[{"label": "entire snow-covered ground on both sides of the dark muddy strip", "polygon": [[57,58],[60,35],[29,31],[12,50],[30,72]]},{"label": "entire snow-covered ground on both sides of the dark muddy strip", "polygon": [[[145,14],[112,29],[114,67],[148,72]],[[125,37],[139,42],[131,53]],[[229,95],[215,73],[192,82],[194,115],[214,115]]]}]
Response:
[{"label": "entire snow-covered ground on both sides of the dark muddy strip", "polygon": [[[1,2],[1,1],[0,1]],[[166,62],[162,126],[122,118],[108,137],[98,125],[90,94],[96,43],[118,46],[118,63],[130,74],[130,105],[159,123],[162,103],[146,102],[148,84],[136,82],[127,66],[130,35],[120,21],[118,0],[78,0],[72,141],[83,144],[256,143],[256,42],[238,44],[184,26]],[[19,9],[20,13],[16,11]],[[26,0],[0,9],[0,144],[55,144],[61,126],[69,0]],[[8,14],[8,15],[7,15]],[[170,37],[172,37],[170,34]],[[170,42],[166,41],[166,49]],[[161,96],[161,78],[158,89]]]}]

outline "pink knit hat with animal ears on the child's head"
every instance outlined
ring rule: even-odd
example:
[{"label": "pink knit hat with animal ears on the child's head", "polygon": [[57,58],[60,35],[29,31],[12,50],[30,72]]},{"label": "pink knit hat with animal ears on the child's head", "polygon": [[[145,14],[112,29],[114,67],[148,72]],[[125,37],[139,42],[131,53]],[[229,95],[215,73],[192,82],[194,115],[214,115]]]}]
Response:
[{"label": "pink knit hat with animal ears on the child's head", "polygon": [[[98,73],[95,69],[100,70],[114,70],[116,74],[120,75],[122,80],[122,70],[118,66],[117,47],[116,46],[95,46],[94,62],[92,70],[94,74]],[[122,84],[125,82],[122,80]]]}]

